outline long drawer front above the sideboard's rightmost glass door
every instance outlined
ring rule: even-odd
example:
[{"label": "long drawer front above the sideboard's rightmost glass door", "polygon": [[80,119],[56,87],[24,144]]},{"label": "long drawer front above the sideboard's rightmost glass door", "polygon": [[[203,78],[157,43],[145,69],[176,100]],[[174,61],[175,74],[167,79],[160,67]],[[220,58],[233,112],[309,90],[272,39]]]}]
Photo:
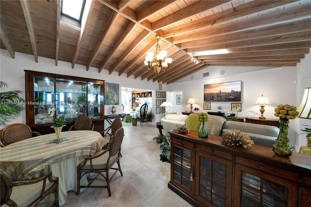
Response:
[{"label": "long drawer front above the sideboard's rightmost glass door", "polygon": [[245,158],[242,158],[239,156],[236,156],[235,161],[237,163],[244,165],[244,166],[254,168],[254,169],[259,170],[261,172],[273,174],[273,175],[276,175],[278,177],[282,177],[282,178],[292,180],[295,182],[298,181],[298,174],[297,173],[292,173],[292,172],[289,172],[286,170],[281,170],[277,167],[267,165],[267,164],[263,164],[260,162],[256,162],[256,161],[251,160],[251,159],[245,159]]}]

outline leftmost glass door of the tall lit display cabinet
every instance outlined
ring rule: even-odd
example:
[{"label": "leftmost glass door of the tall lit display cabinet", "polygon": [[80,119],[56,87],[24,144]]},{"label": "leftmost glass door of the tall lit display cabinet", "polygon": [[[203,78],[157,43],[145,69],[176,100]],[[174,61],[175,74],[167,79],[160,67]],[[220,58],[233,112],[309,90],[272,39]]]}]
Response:
[{"label": "leftmost glass door of the tall lit display cabinet", "polygon": [[48,109],[54,107],[54,78],[34,77],[34,115],[35,124],[52,123]]}]

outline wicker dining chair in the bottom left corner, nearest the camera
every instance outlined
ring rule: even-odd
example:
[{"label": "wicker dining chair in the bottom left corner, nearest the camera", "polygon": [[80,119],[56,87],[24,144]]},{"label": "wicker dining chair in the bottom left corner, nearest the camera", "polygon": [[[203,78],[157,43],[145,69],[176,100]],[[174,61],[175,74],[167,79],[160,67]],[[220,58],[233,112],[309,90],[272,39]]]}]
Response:
[{"label": "wicker dining chair in the bottom left corner, nearest the camera", "polygon": [[52,177],[52,172],[33,180],[12,181],[10,176],[0,170],[1,206],[35,207],[47,195],[54,194],[55,202],[52,206],[59,207],[58,177]]}]

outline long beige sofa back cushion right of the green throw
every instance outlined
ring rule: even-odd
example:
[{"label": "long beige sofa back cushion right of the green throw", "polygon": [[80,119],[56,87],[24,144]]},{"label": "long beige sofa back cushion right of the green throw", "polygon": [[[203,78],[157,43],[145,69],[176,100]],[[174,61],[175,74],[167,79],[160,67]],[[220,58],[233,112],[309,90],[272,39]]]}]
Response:
[{"label": "long beige sofa back cushion right of the green throw", "polygon": [[274,138],[277,138],[279,133],[279,129],[276,126],[239,121],[225,121],[223,129],[237,129],[246,134],[251,133]]}]

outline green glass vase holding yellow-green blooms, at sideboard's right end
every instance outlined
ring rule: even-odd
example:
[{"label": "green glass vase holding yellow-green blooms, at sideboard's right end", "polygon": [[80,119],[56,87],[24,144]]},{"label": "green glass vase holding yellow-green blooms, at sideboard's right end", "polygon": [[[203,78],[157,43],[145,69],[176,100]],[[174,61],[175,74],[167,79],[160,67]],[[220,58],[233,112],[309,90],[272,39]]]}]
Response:
[{"label": "green glass vase holding yellow-green blooms, at sideboard's right end", "polygon": [[276,143],[273,145],[273,152],[277,155],[291,156],[292,147],[290,145],[290,140],[288,138],[288,124],[290,121],[288,119],[280,119],[280,132]]}]

